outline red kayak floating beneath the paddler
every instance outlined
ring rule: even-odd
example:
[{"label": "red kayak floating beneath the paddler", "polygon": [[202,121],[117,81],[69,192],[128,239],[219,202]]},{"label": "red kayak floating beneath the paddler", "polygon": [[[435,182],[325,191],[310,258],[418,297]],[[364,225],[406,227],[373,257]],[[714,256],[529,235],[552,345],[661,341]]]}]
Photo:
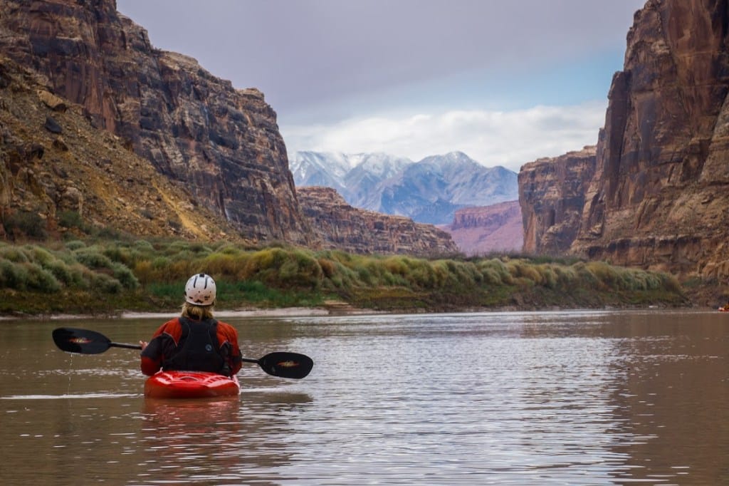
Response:
[{"label": "red kayak floating beneath the paddler", "polygon": [[149,398],[214,398],[241,393],[238,378],[205,371],[160,371],[144,382]]}]

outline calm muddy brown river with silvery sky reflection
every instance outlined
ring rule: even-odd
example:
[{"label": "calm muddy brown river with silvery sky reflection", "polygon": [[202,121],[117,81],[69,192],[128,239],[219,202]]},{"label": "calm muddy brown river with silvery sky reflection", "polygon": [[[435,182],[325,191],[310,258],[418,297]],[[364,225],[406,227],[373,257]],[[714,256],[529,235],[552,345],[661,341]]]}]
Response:
[{"label": "calm muddy brown river with silvery sky reflection", "polygon": [[0,322],[4,485],[729,484],[729,313],[236,317],[241,350],[303,352],[305,379],[241,396],[142,395],[159,319]]}]

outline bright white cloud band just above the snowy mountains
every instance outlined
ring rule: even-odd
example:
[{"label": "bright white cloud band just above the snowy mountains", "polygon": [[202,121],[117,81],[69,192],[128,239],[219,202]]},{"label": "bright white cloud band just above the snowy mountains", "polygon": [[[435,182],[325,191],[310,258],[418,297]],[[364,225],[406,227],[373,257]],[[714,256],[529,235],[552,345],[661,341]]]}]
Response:
[{"label": "bright white cloud band just above the snowy mountains", "polygon": [[281,126],[289,154],[384,152],[419,161],[459,150],[485,166],[513,171],[597,143],[607,101],[514,111],[459,110],[363,117],[330,125]]}]

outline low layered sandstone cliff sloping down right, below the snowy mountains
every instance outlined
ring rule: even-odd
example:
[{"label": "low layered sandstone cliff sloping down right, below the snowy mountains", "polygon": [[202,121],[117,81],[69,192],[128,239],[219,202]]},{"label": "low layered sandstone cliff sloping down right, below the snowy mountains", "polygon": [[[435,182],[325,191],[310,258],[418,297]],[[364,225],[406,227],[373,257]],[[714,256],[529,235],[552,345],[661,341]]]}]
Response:
[{"label": "low layered sandstone cliff sloping down right, below the snowy mountains", "polygon": [[324,238],[326,248],[420,256],[458,252],[451,236],[433,225],[356,209],[332,188],[312,186],[297,190],[303,212]]}]

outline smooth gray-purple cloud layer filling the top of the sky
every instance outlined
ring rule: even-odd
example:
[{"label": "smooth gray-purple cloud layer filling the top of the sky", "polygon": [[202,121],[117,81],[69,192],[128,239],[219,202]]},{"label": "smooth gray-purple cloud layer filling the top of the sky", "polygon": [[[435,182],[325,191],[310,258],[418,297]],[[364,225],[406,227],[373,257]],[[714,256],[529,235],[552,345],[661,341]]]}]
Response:
[{"label": "smooth gray-purple cloud layer filling the top of the sky", "polygon": [[624,49],[643,0],[117,0],[152,44],[279,114],[447,75]]}]

